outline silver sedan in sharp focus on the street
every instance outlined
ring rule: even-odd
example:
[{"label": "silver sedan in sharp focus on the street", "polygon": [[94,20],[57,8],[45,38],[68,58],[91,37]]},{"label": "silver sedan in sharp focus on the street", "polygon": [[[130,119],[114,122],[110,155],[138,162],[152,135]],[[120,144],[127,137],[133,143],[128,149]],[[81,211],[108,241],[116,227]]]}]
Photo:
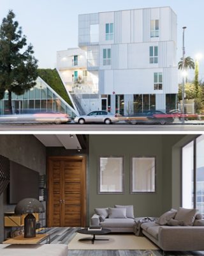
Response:
[{"label": "silver sedan in sharp focus on the street", "polygon": [[92,111],[88,115],[76,116],[75,123],[85,124],[85,123],[104,123],[113,124],[119,122],[117,115],[113,115],[106,111]]}]

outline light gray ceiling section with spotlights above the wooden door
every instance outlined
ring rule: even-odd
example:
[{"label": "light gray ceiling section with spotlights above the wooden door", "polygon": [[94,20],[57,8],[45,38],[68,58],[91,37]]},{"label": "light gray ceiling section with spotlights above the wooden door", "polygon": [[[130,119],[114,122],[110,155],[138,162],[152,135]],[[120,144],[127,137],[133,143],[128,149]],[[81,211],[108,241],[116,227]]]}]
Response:
[{"label": "light gray ceiling section with spotlights above the wooden door", "polygon": [[64,147],[66,149],[82,149],[77,135],[71,134],[34,134],[45,147]]}]

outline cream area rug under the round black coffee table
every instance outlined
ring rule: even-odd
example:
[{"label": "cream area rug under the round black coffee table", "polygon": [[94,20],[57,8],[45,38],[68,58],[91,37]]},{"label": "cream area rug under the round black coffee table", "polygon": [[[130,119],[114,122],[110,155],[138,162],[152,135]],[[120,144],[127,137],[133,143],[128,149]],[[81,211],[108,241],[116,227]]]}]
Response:
[{"label": "cream area rug under the round black coffee table", "polygon": [[107,234],[96,236],[96,239],[109,239],[108,241],[78,241],[79,239],[92,237],[77,234],[68,243],[69,250],[158,250],[159,248],[146,237],[138,237],[134,234]]}]

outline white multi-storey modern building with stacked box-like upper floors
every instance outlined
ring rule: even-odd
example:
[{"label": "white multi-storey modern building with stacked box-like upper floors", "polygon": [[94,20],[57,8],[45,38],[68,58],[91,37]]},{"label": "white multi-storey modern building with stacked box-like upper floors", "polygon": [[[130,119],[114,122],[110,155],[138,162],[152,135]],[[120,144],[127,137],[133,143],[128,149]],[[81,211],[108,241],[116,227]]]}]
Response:
[{"label": "white multi-storey modern building with stacked box-like upper floors", "polygon": [[79,15],[78,47],[57,52],[57,69],[85,113],[176,108],[177,15],[170,7]]}]

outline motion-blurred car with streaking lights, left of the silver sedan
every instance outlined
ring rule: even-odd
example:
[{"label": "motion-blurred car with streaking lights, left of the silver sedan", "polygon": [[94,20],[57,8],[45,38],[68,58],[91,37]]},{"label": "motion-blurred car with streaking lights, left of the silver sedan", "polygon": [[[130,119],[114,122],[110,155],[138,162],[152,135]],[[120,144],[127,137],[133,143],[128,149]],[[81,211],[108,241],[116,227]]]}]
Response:
[{"label": "motion-blurred car with streaking lights, left of the silver sedan", "polygon": [[0,116],[1,123],[55,123],[62,124],[71,122],[71,117],[67,114],[55,112],[41,112],[30,114],[14,114]]}]

